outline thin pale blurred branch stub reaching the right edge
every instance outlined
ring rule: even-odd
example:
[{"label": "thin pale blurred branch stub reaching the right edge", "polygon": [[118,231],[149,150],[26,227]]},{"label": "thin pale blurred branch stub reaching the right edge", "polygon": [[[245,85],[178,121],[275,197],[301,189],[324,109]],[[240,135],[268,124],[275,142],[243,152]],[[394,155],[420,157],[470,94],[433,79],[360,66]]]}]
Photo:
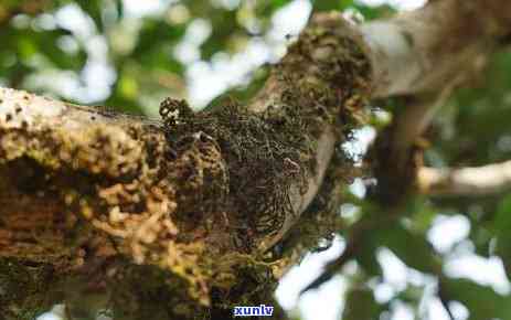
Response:
[{"label": "thin pale blurred branch stub reaching the right edge", "polygon": [[477,196],[511,190],[511,161],[459,169],[420,168],[417,183],[430,195]]}]

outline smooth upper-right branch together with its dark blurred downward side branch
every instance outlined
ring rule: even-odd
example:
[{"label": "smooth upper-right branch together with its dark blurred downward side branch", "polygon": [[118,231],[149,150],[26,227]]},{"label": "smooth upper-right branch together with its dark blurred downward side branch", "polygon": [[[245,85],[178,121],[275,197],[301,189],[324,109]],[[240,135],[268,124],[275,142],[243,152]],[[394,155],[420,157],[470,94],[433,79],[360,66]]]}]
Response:
[{"label": "smooth upper-right branch together with its dark blurred downward side branch", "polygon": [[[379,136],[370,154],[377,178],[372,195],[382,210],[398,212],[416,182],[420,163],[415,154],[416,140],[453,89],[480,71],[493,44],[510,33],[511,8],[504,9],[508,4],[501,1],[490,2],[435,1],[390,21],[360,26],[372,52],[373,96],[413,96]],[[354,258],[359,239],[360,233],[350,234],[345,252],[305,291],[329,280]]]}]

